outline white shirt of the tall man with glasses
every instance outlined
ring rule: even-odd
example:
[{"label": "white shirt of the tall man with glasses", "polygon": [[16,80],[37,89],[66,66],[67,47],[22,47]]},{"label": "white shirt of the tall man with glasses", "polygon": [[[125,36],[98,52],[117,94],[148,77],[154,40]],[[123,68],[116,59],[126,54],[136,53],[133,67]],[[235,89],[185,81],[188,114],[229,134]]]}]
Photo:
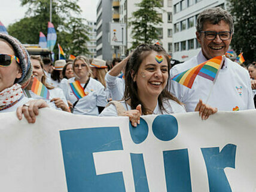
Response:
[{"label": "white shirt of the tall man with glasses", "polygon": [[[200,51],[197,56],[172,67],[170,78],[205,61],[206,58]],[[185,104],[187,112],[194,112],[199,99],[206,102],[212,85],[211,80],[201,76],[196,77],[191,89],[170,80],[170,92]],[[220,70],[207,104],[220,111],[254,109],[251,83],[246,69],[225,58],[223,69]]]}]

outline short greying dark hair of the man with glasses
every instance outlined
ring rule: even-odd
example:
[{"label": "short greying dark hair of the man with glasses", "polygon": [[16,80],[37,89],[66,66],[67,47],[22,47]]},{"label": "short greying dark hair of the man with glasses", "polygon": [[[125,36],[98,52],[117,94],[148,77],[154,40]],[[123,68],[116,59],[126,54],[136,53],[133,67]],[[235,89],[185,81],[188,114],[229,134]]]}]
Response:
[{"label": "short greying dark hair of the man with glasses", "polygon": [[228,11],[220,7],[203,10],[197,17],[196,30],[201,32],[206,21],[209,21],[211,24],[218,24],[221,20],[225,21],[229,25],[230,32],[234,33],[233,17]]}]

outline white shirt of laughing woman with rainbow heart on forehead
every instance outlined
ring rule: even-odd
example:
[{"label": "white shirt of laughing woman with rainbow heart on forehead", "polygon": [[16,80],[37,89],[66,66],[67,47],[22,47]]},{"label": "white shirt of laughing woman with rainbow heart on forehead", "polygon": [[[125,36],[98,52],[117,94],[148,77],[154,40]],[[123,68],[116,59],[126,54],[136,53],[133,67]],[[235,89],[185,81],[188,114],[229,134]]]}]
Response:
[{"label": "white shirt of laughing woman with rainbow heart on forehead", "polygon": [[[129,104],[126,104],[124,101],[120,101],[121,104],[123,104],[125,110],[131,110],[131,107]],[[154,109],[153,114],[172,114],[172,113],[186,113],[186,110],[184,106],[176,103],[176,101],[173,100],[167,100],[167,102],[163,102],[164,109],[167,110],[167,112],[163,111],[163,113],[160,112],[159,109],[159,103],[157,102],[157,106]],[[114,105],[109,105],[106,107],[99,116],[118,116],[117,115],[117,109],[115,109]]]}]

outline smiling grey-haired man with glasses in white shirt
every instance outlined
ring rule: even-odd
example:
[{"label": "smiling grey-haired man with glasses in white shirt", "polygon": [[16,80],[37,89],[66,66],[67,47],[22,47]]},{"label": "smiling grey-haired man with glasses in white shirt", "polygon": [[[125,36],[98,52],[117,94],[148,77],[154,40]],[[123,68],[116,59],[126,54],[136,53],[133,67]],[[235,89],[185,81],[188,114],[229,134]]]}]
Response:
[{"label": "smiling grey-haired man with glasses in white shirt", "polygon": [[[198,55],[174,66],[170,78],[211,58],[225,55],[234,32],[233,17],[220,7],[204,10],[197,17],[197,41],[201,45]],[[199,99],[206,102],[212,81],[197,76],[192,88],[170,81],[170,92],[185,104],[187,112],[193,112]],[[218,74],[208,103],[218,110],[234,111],[254,109],[249,73],[228,58]]]}]

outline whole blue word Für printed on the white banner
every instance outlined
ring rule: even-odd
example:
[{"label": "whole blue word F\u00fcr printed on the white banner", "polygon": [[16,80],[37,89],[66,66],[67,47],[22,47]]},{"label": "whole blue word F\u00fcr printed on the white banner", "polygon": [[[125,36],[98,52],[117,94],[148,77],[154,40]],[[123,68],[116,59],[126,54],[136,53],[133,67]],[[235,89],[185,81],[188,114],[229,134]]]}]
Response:
[{"label": "whole blue word F\u00fcr printed on the white banner", "polygon": [[[134,128],[129,124],[133,143],[141,144],[148,137],[148,124]],[[157,116],[152,124],[154,136],[161,141],[173,140],[178,135],[178,122],[170,114]],[[60,131],[68,191],[126,191],[122,172],[96,175],[93,153],[123,150],[118,127],[84,128]],[[169,144],[170,143],[166,143]],[[234,168],[236,145],[201,148],[208,172],[210,192],[231,191],[224,168]],[[144,154],[130,153],[135,191],[150,191]],[[192,191],[188,149],[163,151],[167,191]]]}]

